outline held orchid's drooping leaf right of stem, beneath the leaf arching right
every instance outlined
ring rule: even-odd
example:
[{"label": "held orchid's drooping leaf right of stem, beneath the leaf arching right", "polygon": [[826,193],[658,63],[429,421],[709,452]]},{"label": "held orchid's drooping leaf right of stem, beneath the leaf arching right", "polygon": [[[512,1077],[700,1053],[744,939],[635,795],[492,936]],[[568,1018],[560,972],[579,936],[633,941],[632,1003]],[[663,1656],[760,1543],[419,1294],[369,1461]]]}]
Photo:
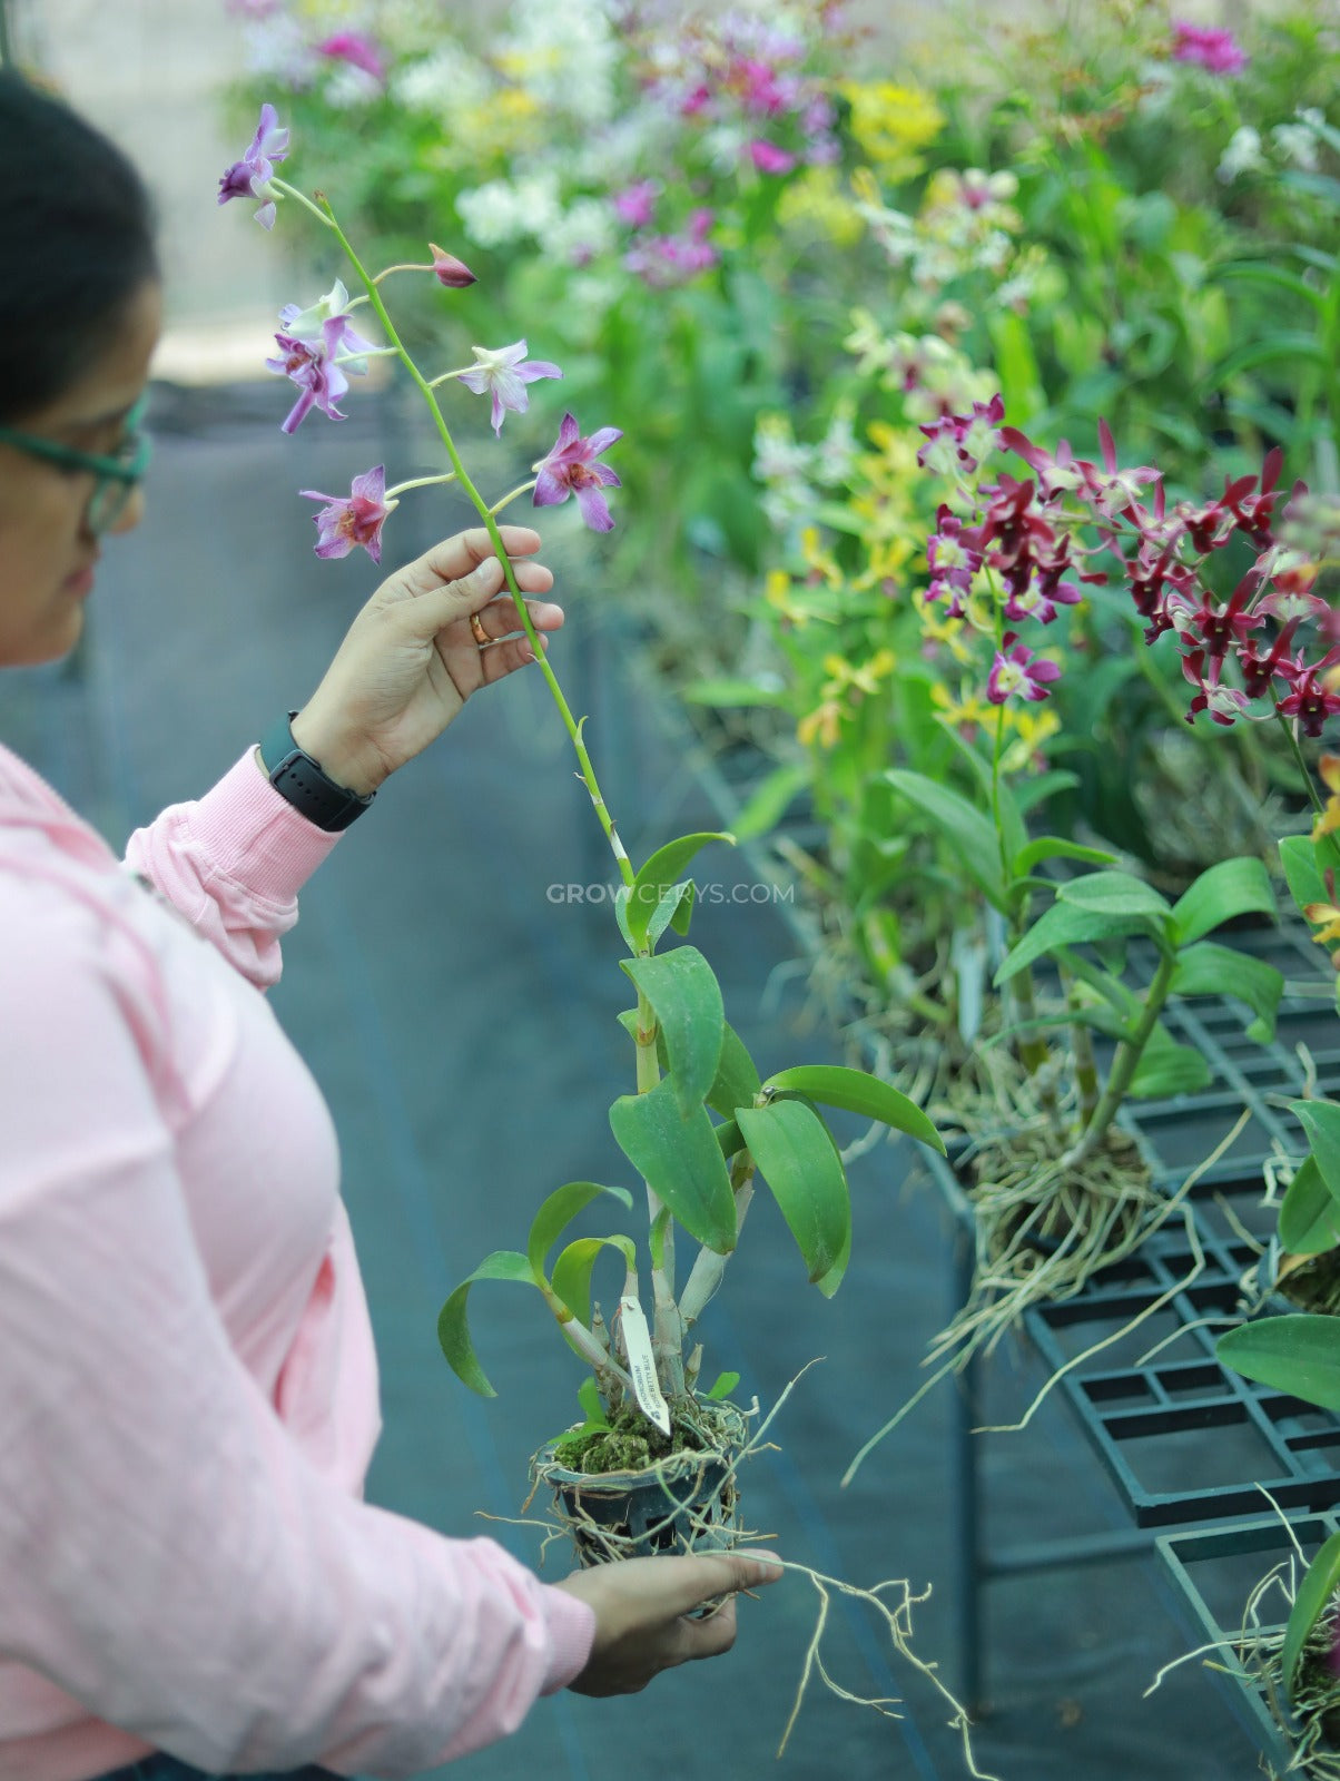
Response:
[{"label": "held orchid's drooping leaf right of stem, beneath the leaf arching right", "polygon": [[809,1279],[821,1286],[825,1298],[832,1297],[852,1236],[846,1172],[832,1134],[804,1101],[739,1108],[736,1120],[791,1227]]}]

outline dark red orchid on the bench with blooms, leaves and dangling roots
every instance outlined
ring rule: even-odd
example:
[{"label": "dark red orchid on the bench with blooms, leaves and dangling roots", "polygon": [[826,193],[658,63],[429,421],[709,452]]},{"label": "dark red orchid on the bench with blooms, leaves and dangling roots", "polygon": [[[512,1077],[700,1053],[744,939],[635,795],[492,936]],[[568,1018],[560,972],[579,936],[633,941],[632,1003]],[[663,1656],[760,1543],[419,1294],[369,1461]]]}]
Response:
[{"label": "dark red orchid on the bench with blooms, leaves and dangling roots", "polygon": [[[1285,725],[1295,752],[1297,730],[1317,734],[1326,711],[1340,709],[1340,693],[1328,686],[1340,650],[1331,641],[1335,614],[1310,591],[1315,559],[1276,533],[1278,452],[1258,476],[1230,479],[1215,500],[1169,502],[1156,467],[1119,463],[1105,424],[1094,459],[1066,442],[1044,451],[1005,424],[998,395],[921,433],[923,468],[953,479],[927,552],[927,604],[953,614],[989,655],[978,705],[987,746],[957,737],[978,798],[907,769],[887,778],[1000,919],[994,983],[1010,1006],[982,1044],[1012,1044],[1017,1065],[1010,1117],[993,1108],[966,1120],[978,1266],[968,1304],[932,1345],[930,1359],[941,1362],[934,1382],[991,1346],[1030,1304],[1080,1291],[1180,1209],[1192,1183],[1176,1193],[1156,1186],[1115,1124],[1126,1097],[1210,1081],[1201,1051],[1165,1024],[1169,1004],[1235,997],[1246,1004],[1247,1035],[1269,1040],[1283,990],[1272,965],[1208,939],[1233,917],[1274,914],[1260,858],[1219,860],[1169,901],[1110,869],[1112,855],[1028,832],[1003,771],[1005,712],[1044,702],[1060,680],[1050,627],[1087,586],[1114,579],[1115,561],[1148,638],[1172,634],[1181,647],[1194,687],[1189,720],[1262,716]],[[1028,474],[1007,470],[1007,452]],[[1304,509],[1299,486],[1290,511]],[[1217,591],[1219,563],[1238,554],[1246,563],[1237,582]],[[994,723],[985,716],[993,709]],[[1058,876],[1060,862],[1078,874]],[[1034,983],[1041,969],[1046,997]],[[1094,1035],[1110,1047],[1105,1070]],[[852,1471],[909,1407],[861,1450]]]}]

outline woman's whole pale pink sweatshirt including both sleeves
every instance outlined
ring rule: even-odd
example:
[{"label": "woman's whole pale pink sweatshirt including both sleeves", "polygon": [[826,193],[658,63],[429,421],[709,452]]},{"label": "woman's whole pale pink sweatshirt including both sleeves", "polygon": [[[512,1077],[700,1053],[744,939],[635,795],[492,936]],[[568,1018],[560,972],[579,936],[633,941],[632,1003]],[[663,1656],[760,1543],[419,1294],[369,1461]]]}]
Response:
[{"label": "woman's whole pale pink sweatshirt including both sleeves", "polygon": [[0,748],[0,1781],[413,1776],[586,1662],[583,1603],[360,1498],[335,1133],[258,994],[331,846],[248,752],[127,871]]}]

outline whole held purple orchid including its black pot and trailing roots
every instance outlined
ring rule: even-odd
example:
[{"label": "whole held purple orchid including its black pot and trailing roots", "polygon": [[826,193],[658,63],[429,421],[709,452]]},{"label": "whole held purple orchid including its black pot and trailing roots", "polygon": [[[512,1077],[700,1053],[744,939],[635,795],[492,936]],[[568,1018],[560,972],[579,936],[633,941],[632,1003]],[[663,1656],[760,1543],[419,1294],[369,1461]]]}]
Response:
[{"label": "whole held purple orchid including its black pot and trailing roots", "polygon": [[[870,1072],[798,1065],[761,1076],[725,1021],[711,965],[697,947],[674,944],[688,933],[693,914],[695,885],[686,876],[691,860],[709,842],[731,842],[731,835],[679,835],[641,866],[634,866],[624,848],[586,748],[584,720],[572,714],[545,659],[499,534],[499,515],[526,493],[536,508],[574,497],[590,529],[611,531],[608,492],[618,488],[620,479],[602,456],[622,433],[599,427],[583,435],[577,419],[565,413],[533,477],[490,502],[460,456],[438,392],[462,385],[488,395],[490,422],[501,435],[508,413],[527,410],[527,386],[563,372],[551,362],[531,360],[524,340],[504,347],[476,346],[469,365],[431,376],[422,370],[396,329],[383,281],[408,272],[445,289],[465,289],[474,274],[437,246],[424,262],[369,271],[326,196],[308,198],[278,176],[276,167],[287,155],[289,130],[280,125],[274,107],[266,105],[246,153],[219,182],[219,203],[237,198],[258,203],[255,216],[264,228],[273,228],[282,203],[310,214],[342,249],[362,292],[351,296],[337,280],[315,305],[282,310],[278,353],[267,363],[298,392],[283,431],[294,433],[314,410],[342,419],[339,403],[346,399],[349,376],[364,374],[374,354],[394,356],[428,404],[449,465],[392,486],[387,486],[385,467],[376,465],[353,479],[347,495],[303,490],[305,499],[321,502],[315,552],[340,557],[365,549],[380,561],[383,527],[410,488],[454,483],[465,492],[494,540],[515,598],[517,629],[524,629],[549,686],[620,874],[615,915],[625,953],[618,964],[634,997],[622,1017],[633,1045],[633,1092],[617,1095],[608,1117],[633,1177],[641,1183],[645,1222],[636,1236],[624,1231],[572,1236],[572,1222],[588,1208],[611,1204],[631,1211],[634,1195],[622,1184],[563,1183],[536,1208],[522,1250],[495,1250],[451,1293],[438,1320],[440,1345],[470,1389],[494,1395],[474,1352],[467,1309],[478,1282],[502,1281],[535,1295],[586,1368],[577,1391],[583,1421],[547,1441],[531,1466],[531,1496],[540,1485],[552,1491],[552,1526],[572,1539],[581,1564],[727,1548],[743,1537],[738,1468],[757,1448],[772,1416],[750,1428],[757,1405],[745,1411],[731,1403],[738,1375],[704,1371],[697,1325],[722,1284],[757,1186],[766,1184],[777,1200],[805,1275],[830,1297],[850,1261],[852,1211],[843,1154],[820,1106],[862,1115],[934,1149],[943,1143],[907,1095]],[[371,319],[364,322],[360,315],[356,328],[358,310]],[[360,331],[371,328],[372,319],[385,344]],[[476,638],[481,647],[494,641],[481,629]],[[677,1250],[686,1240],[697,1252],[681,1284]],[[602,1261],[613,1261],[608,1316],[593,1298],[593,1275]],[[911,1651],[916,1598],[909,1585],[880,1583],[864,1590],[805,1565],[788,1567],[811,1578],[825,1610],[829,1594],[841,1590],[880,1617],[895,1647],[948,1703],[964,1735],[969,1769],[978,1774],[964,1712],[934,1674],[934,1665],[921,1663]],[[811,1640],[791,1720],[813,1671],[829,1679],[818,1658],[823,1624],[825,1612]],[[887,1703],[866,1704],[887,1708]]]}]

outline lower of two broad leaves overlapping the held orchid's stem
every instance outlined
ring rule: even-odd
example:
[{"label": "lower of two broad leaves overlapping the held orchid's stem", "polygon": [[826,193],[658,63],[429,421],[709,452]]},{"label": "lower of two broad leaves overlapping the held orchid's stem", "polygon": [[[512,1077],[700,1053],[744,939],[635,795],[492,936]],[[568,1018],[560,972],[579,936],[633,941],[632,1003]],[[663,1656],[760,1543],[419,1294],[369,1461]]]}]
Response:
[{"label": "lower of two broad leaves overlapping the held orchid's stem", "polygon": [[620,1095],[609,1108],[609,1127],[624,1156],[690,1236],[727,1256],[736,1243],[736,1202],[706,1108],[684,1118],[666,1078],[645,1095]]}]

